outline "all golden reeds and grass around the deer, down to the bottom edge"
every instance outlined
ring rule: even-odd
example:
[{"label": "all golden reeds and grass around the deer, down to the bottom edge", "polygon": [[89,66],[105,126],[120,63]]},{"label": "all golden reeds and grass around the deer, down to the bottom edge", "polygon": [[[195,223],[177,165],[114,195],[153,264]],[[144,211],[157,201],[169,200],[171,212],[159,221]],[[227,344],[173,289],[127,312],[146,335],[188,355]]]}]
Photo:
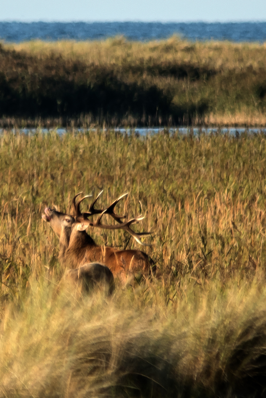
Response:
[{"label": "all golden reeds and grass around the deer, down to the bottom edge", "polygon": [[[2,397],[264,396],[265,136],[111,130],[0,137]],[[156,276],[110,299],[57,291],[47,205],[104,188],[146,218]],[[86,204],[83,205],[86,209]],[[98,244],[136,247],[121,231]]]}]

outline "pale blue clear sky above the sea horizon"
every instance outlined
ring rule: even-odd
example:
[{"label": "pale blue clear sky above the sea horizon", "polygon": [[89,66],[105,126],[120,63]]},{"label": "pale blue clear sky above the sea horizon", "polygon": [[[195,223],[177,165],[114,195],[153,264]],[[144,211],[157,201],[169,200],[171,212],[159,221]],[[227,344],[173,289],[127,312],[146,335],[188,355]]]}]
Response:
[{"label": "pale blue clear sky above the sea horizon", "polygon": [[0,0],[1,21],[266,21],[266,0]]}]

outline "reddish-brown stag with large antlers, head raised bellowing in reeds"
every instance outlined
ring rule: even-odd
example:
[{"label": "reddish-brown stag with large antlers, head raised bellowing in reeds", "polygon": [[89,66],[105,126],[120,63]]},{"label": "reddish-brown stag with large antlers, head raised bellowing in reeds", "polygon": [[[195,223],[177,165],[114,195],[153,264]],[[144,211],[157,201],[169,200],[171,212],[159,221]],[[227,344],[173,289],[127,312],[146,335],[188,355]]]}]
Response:
[{"label": "reddish-brown stag with large antlers, head raised bellowing in reeds", "polygon": [[[87,195],[76,202],[78,193],[73,198],[73,216],[60,213],[55,209],[46,208],[45,214],[42,215],[43,220],[49,222],[55,234],[59,237],[59,259],[65,267],[75,269],[79,268],[85,263],[92,261],[100,261],[104,263],[116,277],[120,277],[122,281],[126,280],[126,275],[130,274],[131,277],[136,273],[149,275],[151,271],[155,271],[155,266],[144,252],[140,250],[118,250],[108,246],[98,246],[94,240],[86,232],[88,227],[104,228],[104,229],[123,229],[130,233],[133,238],[140,244],[142,236],[150,234],[150,232],[136,233],[131,228],[131,224],[135,224],[142,220],[144,217],[136,217],[126,222],[121,219],[125,216],[118,216],[114,213],[114,207],[127,193],[120,196],[106,209],[95,209],[95,203],[102,191],[99,193],[95,201],[91,204],[89,212],[81,213],[81,202],[89,197]],[[104,225],[101,223],[102,216],[110,215],[117,224]],[[88,219],[93,215],[99,215],[96,222]]]}]

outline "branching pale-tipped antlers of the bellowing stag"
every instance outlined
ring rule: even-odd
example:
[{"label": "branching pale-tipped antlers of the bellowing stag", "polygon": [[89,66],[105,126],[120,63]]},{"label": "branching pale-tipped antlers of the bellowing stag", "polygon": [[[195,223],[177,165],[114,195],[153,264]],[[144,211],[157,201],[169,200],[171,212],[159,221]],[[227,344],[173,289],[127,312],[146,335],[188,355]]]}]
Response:
[{"label": "branching pale-tipped antlers of the bellowing stag", "polygon": [[[131,236],[133,236],[133,238],[141,245],[143,246],[150,246],[149,244],[143,243],[140,238],[142,236],[147,236],[150,235],[151,232],[134,232],[131,228],[130,225],[131,224],[137,224],[140,220],[143,220],[144,217],[142,217],[141,215],[134,218],[134,219],[130,219],[126,222],[122,222],[121,219],[125,218],[126,216],[118,216],[117,214],[114,213],[114,207],[116,206],[116,204],[123,199],[126,195],[128,195],[128,193],[124,193],[123,195],[121,195],[120,197],[118,197],[113,203],[111,203],[106,209],[104,210],[98,210],[98,209],[94,209],[94,205],[97,201],[97,199],[99,198],[99,196],[102,194],[102,191],[99,193],[99,195],[97,196],[97,198],[95,199],[95,201],[91,204],[90,208],[89,208],[89,213],[81,213],[80,209],[79,209],[79,205],[81,203],[81,201],[83,201],[83,199],[89,197],[90,195],[84,196],[82,199],[79,200],[79,202],[77,204],[75,204],[75,199],[78,195],[80,195],[80,193],[78,193],[77,195],[75,195],[75,197],[73,198],[73,205],[75,208],[75,219],[79,222],[85,223],[85,225],[88,226],[93,226],[96,228],[104,228],[104,229],[123,229],[126,232],[128,232]],[[98,219],[96,220],[96,222],[91,222],[90,220],[87,219],[87,217],[95,215],[95,214],[100,214],[100,216],[98,217]],[[107,225],[107,224],[101,224],[101,219],[102,216],[104,214],[108,214],[110,215],[114,220],[116,220],[118,222],[118,224],[115,225]]]}]

